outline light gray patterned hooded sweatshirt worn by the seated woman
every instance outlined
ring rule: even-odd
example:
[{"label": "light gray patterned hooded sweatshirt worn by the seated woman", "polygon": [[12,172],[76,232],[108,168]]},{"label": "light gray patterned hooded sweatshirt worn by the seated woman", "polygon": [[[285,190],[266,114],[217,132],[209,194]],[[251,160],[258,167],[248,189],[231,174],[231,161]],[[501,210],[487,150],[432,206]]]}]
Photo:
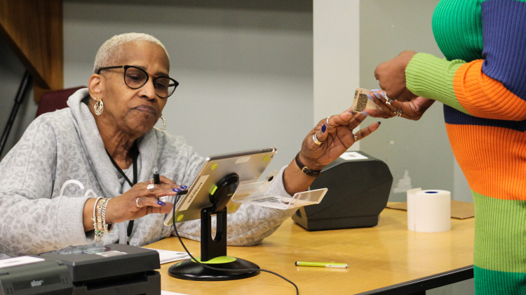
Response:
[{"label": "light gray patterned hooded sweatshirt worn by the seated woman", "polygon": [[[117,197],[130,189],[113,166],[88,110],[87,89],[76,91],[69,107],[42,114],[0,162],[0,257],[39,254],[69,246],[93,244],[93,231],[83,229],[83,208],[90,197]],[[137,182],[159,173],[180,185],[190,185],[203,163],[181,136],[152,129],[137,140]],[[283,170],[269,188],[288,196]],[[126,169],[133,179],[133,169]],[[228,244],[253,245],[274,232],[294,210],[243,205],[228,216]],[[149,214],[134,222],[130,244],[142,246],[173,235],[163,225],[165,214]],[[126,241],[119,223],[102,244]],[[213,223],[213,228],[215,228]],[[177,223],[183,237],[199,240],[200,221]]]}]

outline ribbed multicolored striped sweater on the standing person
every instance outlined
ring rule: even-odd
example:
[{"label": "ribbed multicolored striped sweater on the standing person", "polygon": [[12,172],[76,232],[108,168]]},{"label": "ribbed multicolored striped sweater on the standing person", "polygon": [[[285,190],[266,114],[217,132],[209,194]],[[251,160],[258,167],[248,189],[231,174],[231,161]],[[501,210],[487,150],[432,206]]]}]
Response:
[{"label": "ribbed multicolored striped sweater on the standing person", "polygon": [[476,294],[526,294],[526,0],[442,0],[407,88],[444,103],[476,209]]}]

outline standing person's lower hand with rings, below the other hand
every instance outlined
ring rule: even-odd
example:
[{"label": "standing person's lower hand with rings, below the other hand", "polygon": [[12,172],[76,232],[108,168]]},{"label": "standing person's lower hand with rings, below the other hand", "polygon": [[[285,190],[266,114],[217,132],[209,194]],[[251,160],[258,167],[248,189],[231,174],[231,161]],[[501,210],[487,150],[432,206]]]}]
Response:
[{"label": "standing person's lower hand with rings, below the other hand", "polygon": [[[418,96],[407,102],[388,100],[385,91],[372,91],[367,97],[374,101],[382,110],[366,110],[365,112],[371,117],[385,119],[404,117],[405,119],[417,121],[435,102],[435,100],[423,98],[422,96]],[[397,112],[401,112],[400,116],[396,116]]]}]

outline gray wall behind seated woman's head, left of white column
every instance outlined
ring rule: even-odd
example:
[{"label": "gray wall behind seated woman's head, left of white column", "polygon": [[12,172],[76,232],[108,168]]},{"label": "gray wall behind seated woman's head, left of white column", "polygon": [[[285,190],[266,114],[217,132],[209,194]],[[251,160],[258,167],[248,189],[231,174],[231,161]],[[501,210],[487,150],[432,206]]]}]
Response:
[{"label": "gray wall behind seated woman's head, left of white column", "polygon": [[170,55],[180,82],[163,111],[167,131],[203,156],[276,146],[288,164],[312,125],[309,1],[64,1],[65,86],[87,85],[99,46],[146,32]]}]

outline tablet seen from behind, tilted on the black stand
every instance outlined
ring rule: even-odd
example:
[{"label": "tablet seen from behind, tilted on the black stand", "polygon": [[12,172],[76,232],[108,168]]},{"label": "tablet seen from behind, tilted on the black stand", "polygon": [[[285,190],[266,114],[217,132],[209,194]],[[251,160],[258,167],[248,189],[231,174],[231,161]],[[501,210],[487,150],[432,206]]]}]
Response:
[{"label": "tablet seen from behind, tilted on the black stand", "polygon": [[[164,225],[171,226],[174,221],[177,223],[201,218],[201,209],[213,205],[209,196],[217,182],[230,173],[238,174],[240,184],[257,181],[269,166],[276,151],[276,147],[267,147],[206,158],[201,170],[189,186],[187,194],[175,204],[175,216],[172,212],[167,214]],[[229,212],[240,206],[230,205],[231,203],[227,204]]]}]

